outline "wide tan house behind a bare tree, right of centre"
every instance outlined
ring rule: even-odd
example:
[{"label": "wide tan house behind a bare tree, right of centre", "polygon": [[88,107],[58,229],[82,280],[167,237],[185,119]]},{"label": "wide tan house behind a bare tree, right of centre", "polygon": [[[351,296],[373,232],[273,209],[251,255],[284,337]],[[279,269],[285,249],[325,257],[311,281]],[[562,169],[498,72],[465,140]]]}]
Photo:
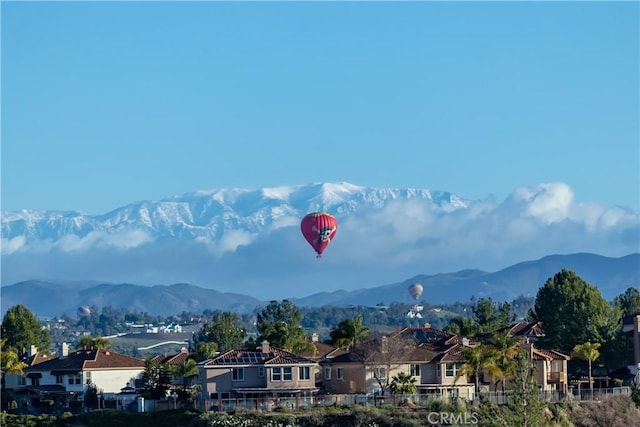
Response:
[{"label": "wide tan house behind a bare tree, right of centre", "polygon": [[429,325],[405,328],[327,357],[322,363],[324,391],[380,395],[403,372],[416,378],[419,394],[471,399],[473,383],[466,376],[456,378],[463,364],[461,351],[467,345],[468,340]]}]

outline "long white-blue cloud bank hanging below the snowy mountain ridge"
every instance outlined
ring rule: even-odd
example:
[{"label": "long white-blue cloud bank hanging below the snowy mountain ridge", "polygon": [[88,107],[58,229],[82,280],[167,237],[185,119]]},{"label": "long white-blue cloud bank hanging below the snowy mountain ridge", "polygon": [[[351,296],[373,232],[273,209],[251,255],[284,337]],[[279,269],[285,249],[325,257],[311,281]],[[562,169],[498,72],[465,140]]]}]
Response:
[{"label": "long white-blue cloud bank hanging below the snowy mountain ridge", "polygon": [[189,282],[264,299],[357,289],[465,268],[496,271],[550,254],[640,252],[639,212],[575,200],[564,183],[517,188],[502,202],[467,208],[394,200],[339,219],[318,260],[283,215],[263,233],[154,239],[144,230],[27,245],[2,241],[2,284],[29,279],[96,279],[139,284]]}]

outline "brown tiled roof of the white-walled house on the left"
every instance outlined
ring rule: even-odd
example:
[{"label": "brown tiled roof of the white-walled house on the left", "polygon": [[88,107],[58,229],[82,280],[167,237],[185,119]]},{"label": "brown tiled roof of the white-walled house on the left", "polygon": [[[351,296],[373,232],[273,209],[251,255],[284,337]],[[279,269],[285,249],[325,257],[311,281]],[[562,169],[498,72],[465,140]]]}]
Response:
[{"label": "brown tiled roof of the white-walled house on the left", "polygon": [[100,369],[144,368],[144,360],[110,350],[78,350],[63,358],[55,357],[25,368],[28,372],[80,372]]}]

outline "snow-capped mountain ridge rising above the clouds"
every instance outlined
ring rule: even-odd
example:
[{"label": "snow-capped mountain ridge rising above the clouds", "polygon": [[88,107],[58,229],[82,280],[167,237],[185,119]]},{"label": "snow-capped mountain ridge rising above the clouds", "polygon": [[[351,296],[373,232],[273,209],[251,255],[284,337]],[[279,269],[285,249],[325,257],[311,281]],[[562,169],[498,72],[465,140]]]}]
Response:
[{"label": "snow-capped mountain ridge rising above the clouds", "polygon": [[326,211],[345,216],[358,209],[381,208],[392,200],[420,199],[445,211],[466,208],[467,201],[444,191],[426,189],[376,189],[348,183],[321,183],[276,188],[198,191],[159,201],[140,201],[104,215],[80,212],[6,212],[2,215],[4,239],[24,237],[56,241],[68,235],[91,232],[117,233],[142,230],[155,238],[220,239],[241,229],[261,233],[290,225],[305,213]]}]

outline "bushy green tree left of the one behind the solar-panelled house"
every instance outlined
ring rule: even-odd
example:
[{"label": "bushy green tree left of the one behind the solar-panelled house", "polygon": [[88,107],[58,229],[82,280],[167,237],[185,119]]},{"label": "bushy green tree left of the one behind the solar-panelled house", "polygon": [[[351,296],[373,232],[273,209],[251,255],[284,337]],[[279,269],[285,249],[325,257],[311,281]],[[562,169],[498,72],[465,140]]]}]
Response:
[{"label": "bushy green tree left of the one behind the solar-panelled house", "polygon": [[217,351],[242,348],[247,331],[240,327],[240,320],[235,313],[216,311],[213,319],[205,323],[195,337],[196,343],[216,343]]}]

